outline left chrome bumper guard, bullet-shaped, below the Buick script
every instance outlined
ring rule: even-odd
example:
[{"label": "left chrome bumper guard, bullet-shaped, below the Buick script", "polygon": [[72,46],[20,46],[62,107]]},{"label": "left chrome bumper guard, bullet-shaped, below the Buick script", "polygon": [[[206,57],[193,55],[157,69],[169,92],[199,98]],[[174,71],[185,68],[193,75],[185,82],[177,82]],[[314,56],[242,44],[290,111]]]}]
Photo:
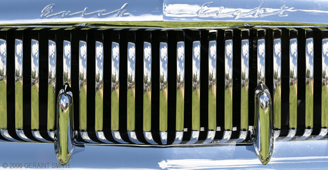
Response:
[{"label": "left chrome bumper guard, bullet-shaped, below the Buick script", "polygon": [[61,164],[66,164],[76,145],[77,131],[73,128],[73,93],[68,85],[60,89],[57,98],[57,116],[55,129],[55,153]]}]

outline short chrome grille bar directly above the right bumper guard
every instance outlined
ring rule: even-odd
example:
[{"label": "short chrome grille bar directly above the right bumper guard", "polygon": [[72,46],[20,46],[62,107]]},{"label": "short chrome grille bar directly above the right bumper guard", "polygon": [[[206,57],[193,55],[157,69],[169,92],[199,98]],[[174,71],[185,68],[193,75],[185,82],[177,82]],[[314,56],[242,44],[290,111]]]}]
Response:
[{"label": "short chrome grille bar directly above the right bumper guard", "polygon": [[258,85],[260,82],[265,83],[265,40],[259,39],[258,40],[258,50],[257,50],[257,79]]}]

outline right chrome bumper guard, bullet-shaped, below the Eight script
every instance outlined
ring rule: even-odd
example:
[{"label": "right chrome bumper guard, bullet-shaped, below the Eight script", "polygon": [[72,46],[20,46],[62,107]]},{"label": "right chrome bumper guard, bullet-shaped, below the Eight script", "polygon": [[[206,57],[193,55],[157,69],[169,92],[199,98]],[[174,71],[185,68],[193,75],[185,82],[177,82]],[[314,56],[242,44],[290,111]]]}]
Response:
[{"label": "right chrome bumper guard, bullet-shaped, below the Eight script", "polygon": [[255,88],[255,122],[252,143],[261,163],[267,164],[273,152],[272,105],[268,87],[260,83]]}]

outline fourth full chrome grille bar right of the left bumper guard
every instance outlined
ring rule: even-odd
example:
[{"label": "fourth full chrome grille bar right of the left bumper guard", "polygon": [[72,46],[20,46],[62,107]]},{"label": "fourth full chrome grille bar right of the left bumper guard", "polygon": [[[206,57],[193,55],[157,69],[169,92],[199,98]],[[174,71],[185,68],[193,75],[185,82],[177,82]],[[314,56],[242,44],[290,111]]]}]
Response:
[{"label": "fourth full chrome grille bar right of the left bumper guard", "polygon": [[[135,130],[135,111],[136,111],[135,110],[136,108],[135,73],[136,73],[136,45],[132,42],[129,42],[128,43],[128,89],[127,89],[128,90],[127,92],[128,131]],[[112,121],[113,121],[113,117],[112,117]],[[117,117],[117,130],[118,130],[118,117]]]}]

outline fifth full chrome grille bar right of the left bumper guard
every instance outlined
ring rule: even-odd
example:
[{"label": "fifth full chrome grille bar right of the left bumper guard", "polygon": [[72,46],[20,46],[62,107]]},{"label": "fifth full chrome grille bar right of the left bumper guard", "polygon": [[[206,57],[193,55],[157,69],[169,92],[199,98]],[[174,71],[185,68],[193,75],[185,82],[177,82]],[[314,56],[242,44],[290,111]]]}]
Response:
[{"label": "fifth full chrome grille bar right of the left bumper guard", "polygon": [[144,42],[143,131],[151,130],[151,44]]}]

